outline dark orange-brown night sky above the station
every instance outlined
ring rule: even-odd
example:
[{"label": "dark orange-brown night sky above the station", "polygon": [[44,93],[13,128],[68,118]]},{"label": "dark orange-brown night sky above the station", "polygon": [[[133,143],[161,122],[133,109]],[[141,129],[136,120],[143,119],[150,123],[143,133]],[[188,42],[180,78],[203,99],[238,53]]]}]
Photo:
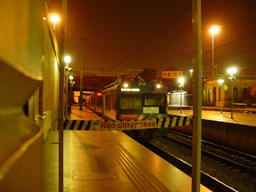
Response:
[{"label": "dark orange-brown night sky above the station", "polygon": [[[61,13],[61,1],[50,1],[50,13]],[[66,53],[78,71],[81,37],[86,68],[162,70],[192,68],[191,0],[67,0]],[[222,26],[214,36],[218,74],[230,66],[256,70],[256,1],[202,0],[202,74],[212,72],[211,25]],[[60,35],[60,25],[56,33]],[[117,76],[117,71],[86,70]],[[122,74],[134,74],[123,72]]]}]

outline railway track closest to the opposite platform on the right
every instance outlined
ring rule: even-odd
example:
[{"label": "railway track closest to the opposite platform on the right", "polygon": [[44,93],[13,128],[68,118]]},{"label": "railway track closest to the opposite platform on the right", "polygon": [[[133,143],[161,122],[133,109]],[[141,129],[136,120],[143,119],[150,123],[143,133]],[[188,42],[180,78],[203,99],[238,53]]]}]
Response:
[{"label": "railway track closest to the opposite platform on the right", "polygon": [[[184,146],[192,147],[192,137],[186,134],[169,131],[164,138],[178,142]],[[256,176],[256,157],[253,155],[245,154],[238,150],[231,150],[206,141],[202,141],[202,154]]]}]

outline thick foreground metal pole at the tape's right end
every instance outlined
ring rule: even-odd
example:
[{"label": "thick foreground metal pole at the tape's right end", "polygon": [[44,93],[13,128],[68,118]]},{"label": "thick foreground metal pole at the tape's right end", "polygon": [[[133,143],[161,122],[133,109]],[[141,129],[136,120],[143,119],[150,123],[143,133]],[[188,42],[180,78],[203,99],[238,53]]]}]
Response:
[{"label": "thick foreground metal pole at the tape's right end", "polygon": [[201,0],[192,0],[193,30],[193,141],[192,141],[192,192],[200,191],[201,139],[202,139],[202,17]]}]

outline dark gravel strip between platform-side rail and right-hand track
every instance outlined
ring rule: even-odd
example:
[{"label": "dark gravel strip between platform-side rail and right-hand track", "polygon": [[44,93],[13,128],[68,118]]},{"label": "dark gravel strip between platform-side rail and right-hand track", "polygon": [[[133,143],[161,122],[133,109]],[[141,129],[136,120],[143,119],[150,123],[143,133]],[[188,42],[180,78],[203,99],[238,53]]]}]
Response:
[{"label": "dark gravel strip between platform-side rail and right-hand track", "polygon": [[[175,142],[166,140],[165,138],[154,138],[150,142],[192,165],[192,150],[185,146],[180,146]],[[241,192],[256,191],[256,177],[242,173],[240,170],[236,170],[233,166],[228,166],[225,163],[208,158],[203,154],[201,169],[206,174],[210,174],[212,177],[226,183],[226,185],[231,186],[235,190]]]}]

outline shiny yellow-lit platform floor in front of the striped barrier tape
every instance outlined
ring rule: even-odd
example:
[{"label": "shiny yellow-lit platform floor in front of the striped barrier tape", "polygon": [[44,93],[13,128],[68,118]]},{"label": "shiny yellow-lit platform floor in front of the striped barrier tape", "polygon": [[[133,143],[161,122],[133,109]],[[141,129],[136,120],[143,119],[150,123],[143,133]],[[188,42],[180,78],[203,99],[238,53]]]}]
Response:
[{"label": "shiny yellow-lit platform floor in front of the striped barrier tape", "polygon": [[[44,191],[58,191],[58,131],[44,151]],[[64,191],[183,192],[191,178],[121,131],[64,130]]]}]

